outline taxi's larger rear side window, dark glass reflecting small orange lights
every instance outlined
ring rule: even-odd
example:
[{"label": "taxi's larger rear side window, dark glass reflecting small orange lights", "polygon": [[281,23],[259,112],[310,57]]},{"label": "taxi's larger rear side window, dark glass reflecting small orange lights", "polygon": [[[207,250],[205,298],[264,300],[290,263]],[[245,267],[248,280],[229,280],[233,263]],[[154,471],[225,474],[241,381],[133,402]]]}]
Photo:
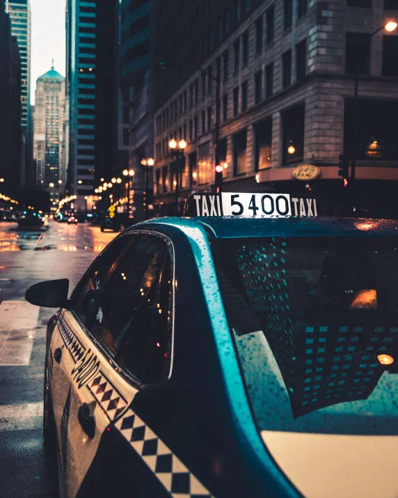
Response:
[{"label": "taxi's larger rear side window, dark glass reflecting small orange lights", "polygon": [[113,270],[90,327],[118,363],[144,383],[157,380],[166,361],[169,293],[168,246],[142,235]]}]

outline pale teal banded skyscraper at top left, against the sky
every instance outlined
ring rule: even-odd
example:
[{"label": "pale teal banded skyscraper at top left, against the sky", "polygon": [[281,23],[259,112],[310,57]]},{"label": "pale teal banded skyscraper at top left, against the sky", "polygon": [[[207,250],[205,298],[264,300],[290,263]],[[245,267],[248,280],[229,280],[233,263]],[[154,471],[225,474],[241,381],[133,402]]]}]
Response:
[{"label": "pale teal banded skyscraper at top left, against the sky", "polygon": [[11,34],[17,38],[22,76],[22,127],[29,129],[31,87],[31,6],[29,0],[6,0],[6,12],[11,20]]}]

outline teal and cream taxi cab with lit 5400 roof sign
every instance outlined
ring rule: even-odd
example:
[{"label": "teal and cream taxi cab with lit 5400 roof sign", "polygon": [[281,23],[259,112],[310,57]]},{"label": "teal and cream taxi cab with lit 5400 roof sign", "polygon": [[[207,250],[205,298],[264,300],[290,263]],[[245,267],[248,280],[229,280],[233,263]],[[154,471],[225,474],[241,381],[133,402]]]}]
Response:
[{"label": "teal and cream taxi cab with lit 5400 roof sign", "polygon": [[398,223],[320,214],[192,194],[26,291],[61,496],[398,495]]}]

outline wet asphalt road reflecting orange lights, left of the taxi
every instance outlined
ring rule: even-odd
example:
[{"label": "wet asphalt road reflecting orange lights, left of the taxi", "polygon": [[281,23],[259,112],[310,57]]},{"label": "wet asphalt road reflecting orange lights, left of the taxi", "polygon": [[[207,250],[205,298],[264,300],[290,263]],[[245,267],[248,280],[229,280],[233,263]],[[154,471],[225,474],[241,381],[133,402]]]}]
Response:
[{"label": "wet asphalt road reflecting orange lights, left of the taxi", "polygon": [[[0,223],[0,339],[6,334],[6,325],[1,331],[5,302],[26,306],[26,288],[42,280],[68,278],[72,291],[115,235],[88,224],[68,226],[50,221],[48,230],[40,232],[18,231],[16,224]],[[45,327],[54,311],[41,308],[32,319],[35,335],[29,364],[2,366],[7,357],[0,342],[1,498],[58,496],[56,470],[43,449],[41,430]]]}]

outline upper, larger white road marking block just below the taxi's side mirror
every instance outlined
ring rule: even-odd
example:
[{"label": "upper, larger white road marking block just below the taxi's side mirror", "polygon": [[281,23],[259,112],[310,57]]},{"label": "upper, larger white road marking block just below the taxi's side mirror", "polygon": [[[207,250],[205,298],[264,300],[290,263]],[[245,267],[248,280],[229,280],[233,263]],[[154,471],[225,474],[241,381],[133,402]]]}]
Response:
[{"label": "upper, larger white road marking block just below the taxi's side mirror", "polygon": [[0,366],[27,366],[40,308],[26,301],[0,304]]}]

